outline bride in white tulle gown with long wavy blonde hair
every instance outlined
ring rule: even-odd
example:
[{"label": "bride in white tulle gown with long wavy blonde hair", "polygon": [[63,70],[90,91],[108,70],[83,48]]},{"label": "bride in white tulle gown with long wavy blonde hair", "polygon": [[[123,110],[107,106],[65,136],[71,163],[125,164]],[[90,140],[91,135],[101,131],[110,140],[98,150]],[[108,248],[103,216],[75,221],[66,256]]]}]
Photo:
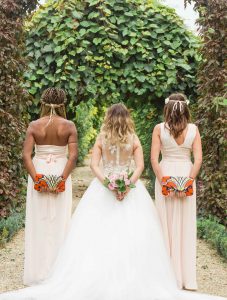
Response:
[{"label": "bride in white tulle gown with long wavy blonde hair", "polygon": [[[135,188],[115,193],[104,186],[106,176],[131,171],[133,161]],[[139,180],[142,147],[123,104],[108,109],[91,168],[96,178],[72,217],[49,278],[0,300],[224,299],[177,288],[153,201]]]}]

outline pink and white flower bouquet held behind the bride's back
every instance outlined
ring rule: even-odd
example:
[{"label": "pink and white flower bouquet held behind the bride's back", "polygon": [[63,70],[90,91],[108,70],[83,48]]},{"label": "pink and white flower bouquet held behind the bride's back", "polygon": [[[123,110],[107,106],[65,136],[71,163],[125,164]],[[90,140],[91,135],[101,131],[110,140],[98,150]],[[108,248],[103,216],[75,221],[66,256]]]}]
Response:
[{"label": "pink and white flower bouquet held behind the bride's back", "polygon": [[111,174],[107,176],[104,180],[104,185],[111,191],[116,191],[117,193],[124,193],[129,188],[135,188],[135,184],[131,182],[133,172],[128,173],[123,171],[119,174]]}]

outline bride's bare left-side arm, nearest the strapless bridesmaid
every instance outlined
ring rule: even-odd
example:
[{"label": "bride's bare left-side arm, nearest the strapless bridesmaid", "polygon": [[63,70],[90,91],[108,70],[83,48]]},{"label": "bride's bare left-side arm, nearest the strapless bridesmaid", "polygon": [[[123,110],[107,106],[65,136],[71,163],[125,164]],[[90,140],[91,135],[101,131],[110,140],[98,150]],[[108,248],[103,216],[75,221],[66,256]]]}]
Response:
[{"label": "bride's bare left-side arm, nearest the strapless bridesmaid", "polygon": [[101,156],[102,156],[102,145],[101,145],[101,140],[98,137],[96,139],[95,145],[92,150],[90,167],[93,173],[95,174],[95,176],[101,181],[101,183],[104,183],[105,176],[103,175],[103,172],[99,167]]}]

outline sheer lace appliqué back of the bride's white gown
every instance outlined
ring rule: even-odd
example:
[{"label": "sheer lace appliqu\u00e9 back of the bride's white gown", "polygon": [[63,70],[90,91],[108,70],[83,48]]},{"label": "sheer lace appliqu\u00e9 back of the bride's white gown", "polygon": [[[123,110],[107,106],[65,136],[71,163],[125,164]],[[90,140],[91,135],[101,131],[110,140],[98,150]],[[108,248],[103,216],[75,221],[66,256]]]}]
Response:
[{"label": "sheer lace appliqu\u00e9 back of the bride's white gown", "polygon": [[104,135],[100,135],[100,138],[105,175],[130,171],[133,158],[134,135],[130,135],[125,144],[112,144]]}]

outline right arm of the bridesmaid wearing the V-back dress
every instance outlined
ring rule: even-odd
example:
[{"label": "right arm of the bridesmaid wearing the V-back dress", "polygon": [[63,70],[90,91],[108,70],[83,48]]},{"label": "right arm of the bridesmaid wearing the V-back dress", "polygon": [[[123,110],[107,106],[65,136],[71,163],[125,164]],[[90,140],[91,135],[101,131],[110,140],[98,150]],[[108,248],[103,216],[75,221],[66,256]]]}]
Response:
[{"label": "right arm of the bridesmaid wearing the V-back dress", "polygon": [[196,136],[192,145],[192,151],[194,156],[194,164],[189,176],[194,179],[198,175],[202,165],[202,143],[198,128],[196,129]]}]

